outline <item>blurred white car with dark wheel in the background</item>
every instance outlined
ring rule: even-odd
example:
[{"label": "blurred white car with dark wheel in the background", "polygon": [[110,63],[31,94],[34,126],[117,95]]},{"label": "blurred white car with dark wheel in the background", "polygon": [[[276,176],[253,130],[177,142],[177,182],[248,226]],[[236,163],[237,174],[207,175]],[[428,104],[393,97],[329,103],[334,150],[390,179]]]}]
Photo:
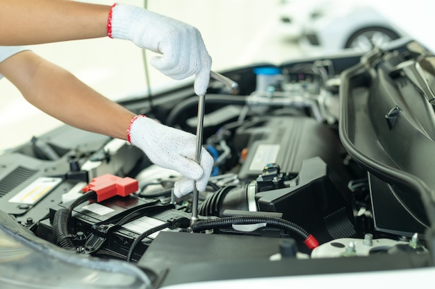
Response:
[{"label": "blurred white car with dark wheel in the background", "polygon": [[304,26],[302,49],[368,51],[404,36],[379,10],[359,1],[324,1]]}]

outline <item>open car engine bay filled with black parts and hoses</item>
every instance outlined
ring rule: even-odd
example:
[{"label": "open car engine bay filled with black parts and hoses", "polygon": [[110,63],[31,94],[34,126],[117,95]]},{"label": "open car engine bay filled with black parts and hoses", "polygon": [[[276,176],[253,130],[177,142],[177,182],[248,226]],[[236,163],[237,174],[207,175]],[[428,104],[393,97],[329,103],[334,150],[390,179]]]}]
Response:
[{"label": "open car engine bay filled with black parts and hoses", "polygon": [[[223,72],[237,89],[211,80],[215,164],[196,222],[192,194],[172,193],[179,173],[67,125],[0,156],[1,220],[60,252],[131,263],[154,288],[430,267],[433,55],[397,43]],[[122,105],[195,134],[197,103],[186,85]]]}]

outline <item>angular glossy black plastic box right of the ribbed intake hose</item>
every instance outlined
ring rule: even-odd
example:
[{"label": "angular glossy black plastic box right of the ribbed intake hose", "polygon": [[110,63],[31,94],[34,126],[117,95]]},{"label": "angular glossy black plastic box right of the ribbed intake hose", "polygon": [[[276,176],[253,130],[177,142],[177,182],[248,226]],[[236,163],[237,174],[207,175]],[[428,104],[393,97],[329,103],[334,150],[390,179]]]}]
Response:
[{"label": "angular glossy black plastic box right of the ribbed intake hose", "polygon": [[259,211],[282,212],[320,243],[356,234],[350,191],[319,157],[304,161],[297,185],[259,192],[255,198]]}]

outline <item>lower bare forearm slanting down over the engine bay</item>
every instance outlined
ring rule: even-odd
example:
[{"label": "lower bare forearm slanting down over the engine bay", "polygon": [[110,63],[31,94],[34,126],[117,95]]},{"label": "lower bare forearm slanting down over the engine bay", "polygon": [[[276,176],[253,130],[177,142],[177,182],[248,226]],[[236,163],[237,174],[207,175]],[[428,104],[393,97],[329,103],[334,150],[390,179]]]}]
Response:
[{"label": "lower bare forearm slanting down over the engine bay", "polygon": [[22,51],[0,62],[0,73],[29,103],[76,128],[126,140],[133,112],[105,98],[72,73]]}]

